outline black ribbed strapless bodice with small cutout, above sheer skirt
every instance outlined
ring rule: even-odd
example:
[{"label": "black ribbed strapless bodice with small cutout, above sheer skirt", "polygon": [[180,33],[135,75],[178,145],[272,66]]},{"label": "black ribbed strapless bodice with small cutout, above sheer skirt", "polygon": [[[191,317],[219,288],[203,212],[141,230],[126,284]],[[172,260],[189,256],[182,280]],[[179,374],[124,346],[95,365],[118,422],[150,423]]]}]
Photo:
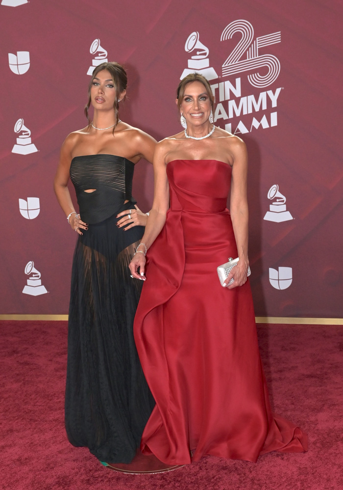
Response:
[{"label": "black ribbed strapless bodice with small cutout, above sheer skirt", "polygon": [[[76,191],[80,217],[94,224],[109,218],[125,200],[132,197],[134,163],[116,155],[82,155],[74,157],[70,177]],[[85,192],[96,189],[93,192]]]}]

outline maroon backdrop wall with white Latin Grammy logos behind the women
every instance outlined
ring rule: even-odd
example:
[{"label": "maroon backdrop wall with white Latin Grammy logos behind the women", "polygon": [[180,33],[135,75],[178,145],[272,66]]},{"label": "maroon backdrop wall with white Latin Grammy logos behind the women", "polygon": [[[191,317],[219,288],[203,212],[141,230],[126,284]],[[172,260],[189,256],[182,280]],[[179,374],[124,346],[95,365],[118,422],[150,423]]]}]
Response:
[{"label": "maroon backdrop wall with white Latin Grammy logos behind the women", "polygon": [[[52,182],[108,60],[128,74],[129,124],[180,131],[175,90],[197,71],[215,124],[244,139],[256,316],[343,318],[342,19],[335,0],[2,0],[0,314],[68,312],[76,236]],[[141,161],[143,211],[152,192]]]}]

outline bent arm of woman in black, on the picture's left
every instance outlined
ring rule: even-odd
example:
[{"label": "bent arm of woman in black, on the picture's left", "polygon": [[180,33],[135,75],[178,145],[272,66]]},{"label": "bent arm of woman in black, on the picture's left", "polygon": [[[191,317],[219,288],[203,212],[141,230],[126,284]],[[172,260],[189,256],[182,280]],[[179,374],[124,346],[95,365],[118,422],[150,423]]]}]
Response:
[{"label": "bent arm of woman in black, on the picture's left", "polygon": [[74,146],[75,136],[73,133],[65,139],[60,152],[60,161],[58,163],[56,175],[53,182],[53,188],[59,202],[59,205],[63,209],[66,217],[71,213],[69,218],[69,224],[79,235],[82,235],[79,228],[87,229],[86,223],[81,219],[76,218],[76,212],[73,206],[72,198],[68,189],[70,164],[72,162],[72,149]]}]

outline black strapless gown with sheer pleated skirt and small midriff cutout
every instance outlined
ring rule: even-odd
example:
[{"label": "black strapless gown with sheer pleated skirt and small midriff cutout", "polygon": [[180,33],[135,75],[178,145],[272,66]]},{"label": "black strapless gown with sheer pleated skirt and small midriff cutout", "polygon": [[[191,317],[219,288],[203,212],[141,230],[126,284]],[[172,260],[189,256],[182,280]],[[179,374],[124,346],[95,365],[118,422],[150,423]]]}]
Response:
[{"label": "black strapless gown with sheer pleated skirt and small midriff cutout", "polygon": [[70,169],[89,227],[73,257],[65,424],[74,446],[108,463],[131,462],[154,406],[133,339],[143,283],[128,269],[144,228],[116,226],[116,215],[135,204],[133,169],[113,155],[75,157]]}]

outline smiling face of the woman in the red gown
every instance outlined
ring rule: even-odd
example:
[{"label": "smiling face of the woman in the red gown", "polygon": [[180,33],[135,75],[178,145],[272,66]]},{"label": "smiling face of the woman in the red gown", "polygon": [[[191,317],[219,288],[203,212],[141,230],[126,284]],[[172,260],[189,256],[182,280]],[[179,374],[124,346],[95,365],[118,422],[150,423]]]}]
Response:
[{"label": "smiling face of the woman in the red gown", "polygon": [[211,101],[201,82],[187,83],[180,104],[180,112],[185,117],[187,126],[201,126],[208,121],[211,114]]}]

